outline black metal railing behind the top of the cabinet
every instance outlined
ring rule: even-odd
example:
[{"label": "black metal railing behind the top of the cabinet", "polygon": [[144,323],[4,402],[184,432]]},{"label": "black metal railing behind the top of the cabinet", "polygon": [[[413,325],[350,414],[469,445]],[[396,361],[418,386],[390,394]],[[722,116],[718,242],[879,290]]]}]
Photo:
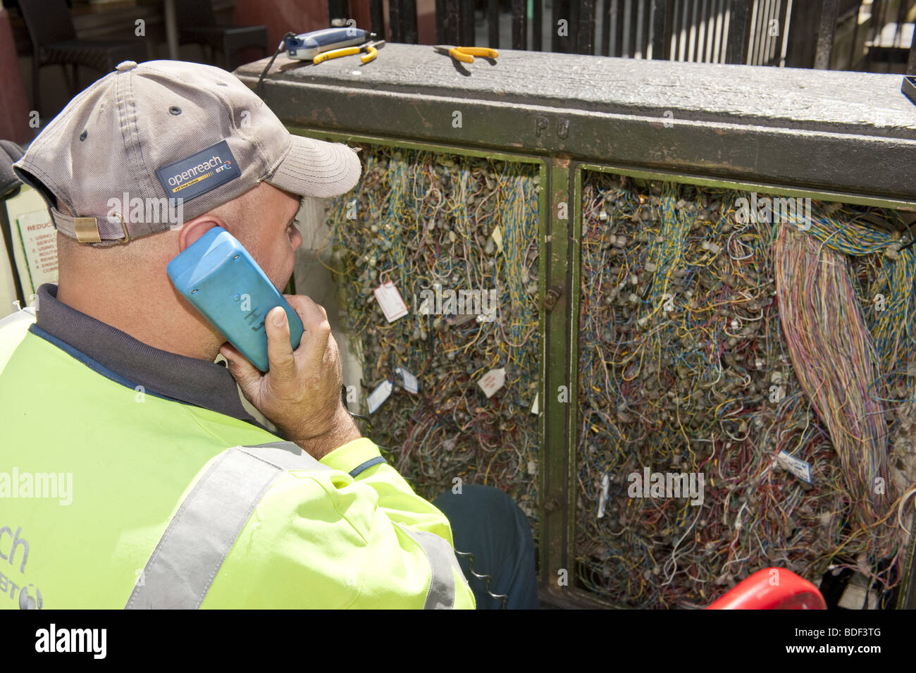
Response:
[{"label": "black metal railing behind the top of the cabinet", "polygon": [[[418,44],[417,0],[387,6],[386,20],[382,0],[371,0],[371,29],[392,42]],[[328,9],[333,19],[350,16],[348,0],[329,0]],[[435,40],[703,63],[818,69],[833,63],[839,70],[880,70],[882,51],[900,59],[909,49],[912,69],[916,52],[905,27],[914,10],[914,0],[436,0]],[[501,44],[506,23],[511,38]],[[838,41],[840,58],[834,57]],[[865,59],[856,52],[863,44],[874,45]]]}]

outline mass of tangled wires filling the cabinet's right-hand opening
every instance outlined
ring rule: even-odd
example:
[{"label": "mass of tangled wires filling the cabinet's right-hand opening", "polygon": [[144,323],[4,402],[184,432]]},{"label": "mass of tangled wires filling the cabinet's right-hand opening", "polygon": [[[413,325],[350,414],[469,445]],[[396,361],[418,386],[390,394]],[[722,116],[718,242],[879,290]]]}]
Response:
[{"label": "mass of tangled wires filling the cabinet's right-hand opening", "polygon": [[[836,245],[844,265],[845,255],[875,257],[885,248],[897,256],[895,266],[857,271],[857,287],[881,289],[887,302],[876,316],[864,293],[844,286],[846,306],[857,300],[865,324],[851,309],[837,315],[838,302],[826,300],[780,311],[777,267],[783,288],[803,291],[793,251],[774,246],[794,225],[736,217],[742,198],[753,196],[602,173],[583,180],[577,578],[619,604],[703,606],[768,566],[818,581],[849,565],[883,589],[899,579],[881,398],[889,381],[912,389],[907,367],[887,359],[911,353],[911,294],[902,286],[912,259],[896,254],[892,227],[868,238],[836,219],[889,213],[814,203],[802,242],[829,237],[819,245]],[[856,408],[870,414],[864,424],[848,400],[818,397],[842,378],[819,369],[812,353],[801,355],[799,368],[800,352],[787,346],[784,328],[797,336],[812,322],[821,346],[832,349],[817,353],[822,360],[857,326],[861,356],[853,364],[847,354],[836,366],[848,366],[843,375],[859,382]],[[871,366],[863,364],[866,327],[878,351]],[[906,426],[905,417],[891,430]],[[836,446],[839,435],[845,440]],[[890,454],[902,458],[910,440],[900,433]],[[910,472],[899,482],[912,481],[911,464],[902,467]],[[702,504],[639,497],[631,474],[647,469],[702,474]],[[876,477],[885,479],[883,499],[856,495]]]}]

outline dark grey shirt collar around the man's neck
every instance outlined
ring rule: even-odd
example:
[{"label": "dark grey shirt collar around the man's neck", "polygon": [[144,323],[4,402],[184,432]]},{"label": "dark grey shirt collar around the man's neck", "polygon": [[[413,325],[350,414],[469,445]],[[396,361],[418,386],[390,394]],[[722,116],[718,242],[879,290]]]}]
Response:
[{"label": "dark grey shirt collar around the man's neck", "polygon": [[146,394],[210,409],[267,429],[245,410],[235,379],[223,365],[139,342],[59,301],[53,283],[42,285],[36,295],[37,320],[29,331],[99,374],[131,387],[142,385]]}]

